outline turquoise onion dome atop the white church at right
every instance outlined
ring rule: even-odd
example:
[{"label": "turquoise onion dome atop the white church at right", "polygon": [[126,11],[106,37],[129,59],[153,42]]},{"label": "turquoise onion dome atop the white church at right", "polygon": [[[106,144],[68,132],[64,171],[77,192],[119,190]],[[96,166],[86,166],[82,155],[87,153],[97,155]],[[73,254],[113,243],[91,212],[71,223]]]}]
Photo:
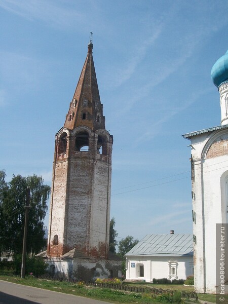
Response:
[{"label": "turquoise onion dome atop the white church at right", "polygon": [[228,51],[213,65],[211,69],[211,79],[216,87],[228,80]]}]

